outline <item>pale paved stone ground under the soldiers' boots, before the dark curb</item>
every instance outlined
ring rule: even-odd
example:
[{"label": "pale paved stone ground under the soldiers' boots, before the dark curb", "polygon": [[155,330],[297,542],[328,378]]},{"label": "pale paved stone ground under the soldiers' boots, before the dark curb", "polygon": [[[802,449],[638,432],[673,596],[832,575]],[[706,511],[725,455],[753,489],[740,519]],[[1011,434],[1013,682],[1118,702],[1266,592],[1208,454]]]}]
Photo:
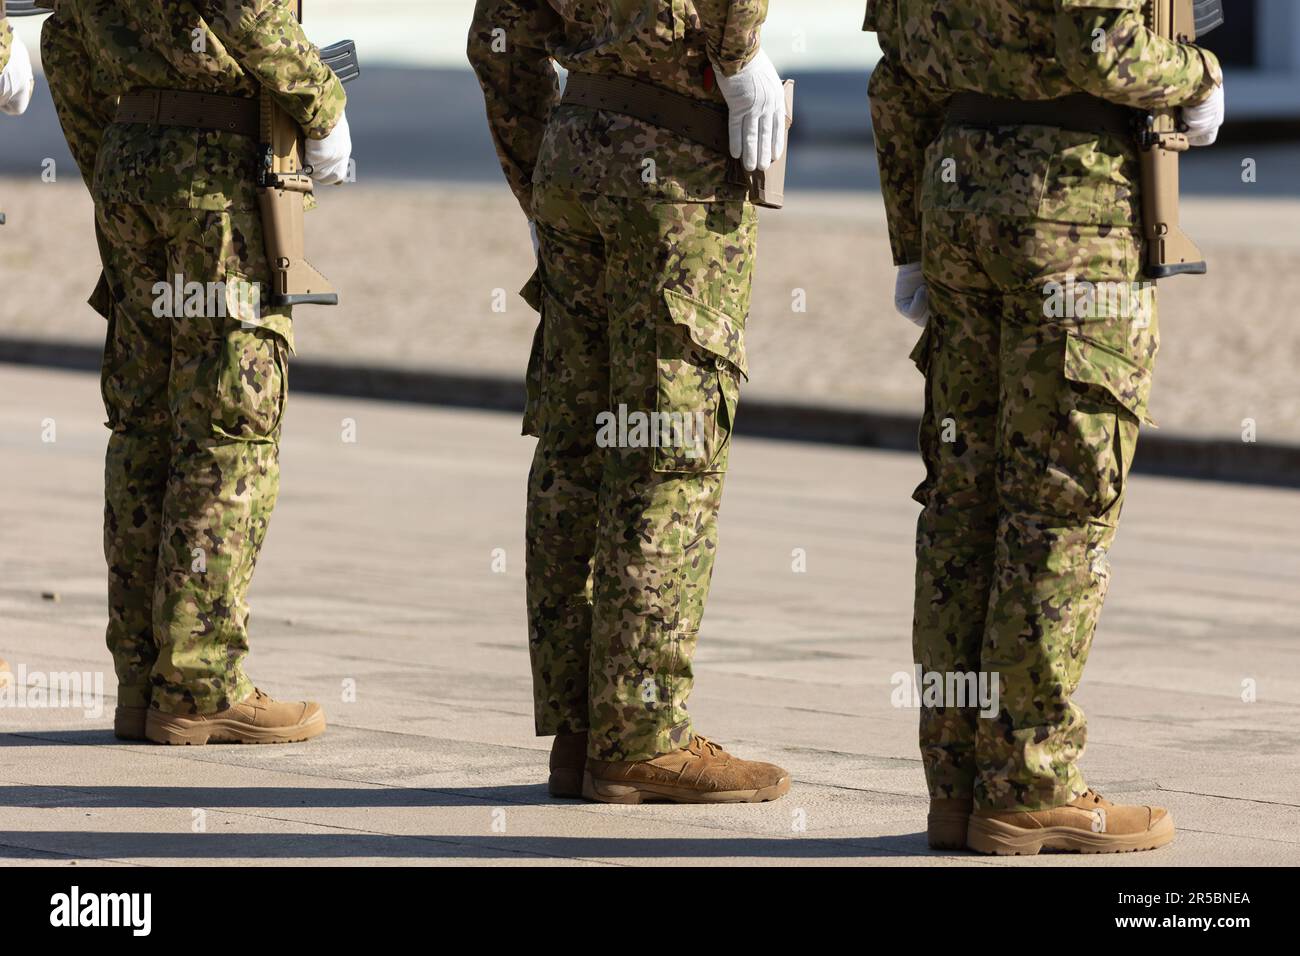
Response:
[{"label": "pale paved stone ground under the soldiers' boots, before the dark curb", "polygon": [[[101,418],[92,376],[0,367],[0,653],[29,671],[107,666]],[[1170,806],[1180,835],[1154,853],[1008,861],[924,848],[915,713],[890,705],[910,667],[910,455],[733,451],[692,706],[705,732],[790,767],[786,799],[547,799],[523,633],[529,454],[512,416],[295,398],[251,671],[321,700],[330,731],[121,744],[110,674],[100,717],[0,710],[0,862],[1300,864],[1295,492],[1134,481],[1079,695],[1084,767],[1113,797]]]}]

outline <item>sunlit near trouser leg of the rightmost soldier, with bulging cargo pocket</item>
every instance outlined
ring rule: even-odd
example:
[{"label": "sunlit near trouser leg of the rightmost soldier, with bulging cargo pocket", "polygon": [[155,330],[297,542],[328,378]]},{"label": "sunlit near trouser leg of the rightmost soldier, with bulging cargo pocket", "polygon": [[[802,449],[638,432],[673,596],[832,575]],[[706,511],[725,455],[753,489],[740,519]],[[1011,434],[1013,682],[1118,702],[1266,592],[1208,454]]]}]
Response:
[{"label": "sunlit near trouser leg of the rightmost soldier, with bulging cargo pocket", "polygon": [[[1132,286],[1141,255],[1130,230],[1004,225],[1015,287],[1002,328],[1000,520],[982,652],[982,667],[1001,675],[1001,701],[980,721],[976,806],[1037,810],[1086,791],[1086,726],[1071,696],[1109,583],[1158,336],[1153,293]],[[1066,310],[1071,287],[1097,294]]]}]

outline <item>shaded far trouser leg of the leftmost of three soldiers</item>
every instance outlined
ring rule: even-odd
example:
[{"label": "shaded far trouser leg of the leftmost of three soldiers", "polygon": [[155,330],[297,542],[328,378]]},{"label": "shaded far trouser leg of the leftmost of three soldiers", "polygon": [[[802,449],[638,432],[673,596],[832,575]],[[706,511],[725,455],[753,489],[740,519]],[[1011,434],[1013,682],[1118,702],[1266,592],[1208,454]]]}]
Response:
[{"label": "shaded far trouser leg of the leftmost of three soldiers", "polygon": [[112,429],[104,463],[107,640],[118,706],[144,708],[157,659],[153,588],[172,457],[172,325],[155,313],[153,291],[168,271],[166,243],[140,207],[100,204],[95,216],[110,294],[100,378]]}]

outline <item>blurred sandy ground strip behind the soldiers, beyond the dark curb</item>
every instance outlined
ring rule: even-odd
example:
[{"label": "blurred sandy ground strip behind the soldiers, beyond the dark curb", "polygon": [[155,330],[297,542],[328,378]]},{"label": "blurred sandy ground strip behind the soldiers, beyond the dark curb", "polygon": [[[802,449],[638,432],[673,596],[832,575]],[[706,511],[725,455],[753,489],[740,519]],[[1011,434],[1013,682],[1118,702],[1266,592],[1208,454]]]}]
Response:
[{"label": "blurred sandy ground strip behind the soldiers, beyond the dark curb", "polygon": [[[0,179],[0,336],[88,342],[98,273],[79,185]],[[1153,414],[1170,432],[1300,441],[1300,202],[1191,199],[1184,222],[1210,274],[1161,290]],[[330,190],[308,219],[309,255],[338,308],[302,310],[313,359],[523,375],[536,315],[523,216],[504,186]],[[915,330],[892,311],[893,268],[878,195],[803,193],[766,212],[748,347],[751,394],[914,411]],[[506,300],[506,310],[493,310]],[[796,312],[796,290],[807,311]]]}]

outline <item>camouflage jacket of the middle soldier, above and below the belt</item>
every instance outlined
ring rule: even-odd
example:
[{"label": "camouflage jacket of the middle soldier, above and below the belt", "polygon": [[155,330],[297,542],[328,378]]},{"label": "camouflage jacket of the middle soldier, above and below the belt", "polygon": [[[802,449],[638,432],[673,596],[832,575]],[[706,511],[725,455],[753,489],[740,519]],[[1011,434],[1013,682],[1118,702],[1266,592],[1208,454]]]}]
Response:
[{"label": "camouflage jacket of the middle soldier, above and below the belt", "polygon": [[525,215],[534,177],[604,195],[744,196],[727,183],[727,157],[706,147],[627,116],[556,109],[551,61],[723,104],[710,62],[727,75],[742,69],[766,18],[767,0],[478,0],[469,62]]}]

